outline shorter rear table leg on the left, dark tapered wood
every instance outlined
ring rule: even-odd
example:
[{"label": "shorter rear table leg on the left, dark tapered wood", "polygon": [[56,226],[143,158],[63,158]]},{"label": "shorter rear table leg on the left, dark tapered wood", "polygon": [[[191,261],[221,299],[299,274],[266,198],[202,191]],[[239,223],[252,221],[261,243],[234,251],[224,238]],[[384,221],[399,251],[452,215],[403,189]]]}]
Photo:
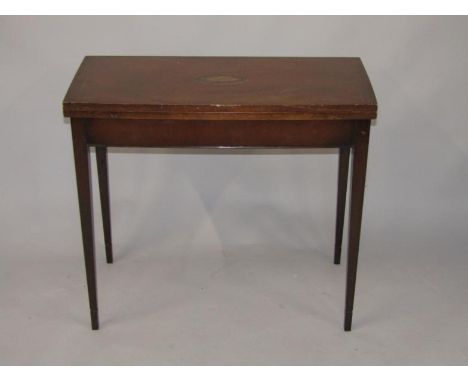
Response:
[{"label": "shorter rear table leg on the left, dark tapered wood", "polygon": [[104,242],[106,245],[106,260],[112,264],[112,233],[110,223],[109,202],[109,172],[107,170],[107,147],[96,146],[96,163],[99,179],[99,195],[101,198],[102,225],[104,229]]}]

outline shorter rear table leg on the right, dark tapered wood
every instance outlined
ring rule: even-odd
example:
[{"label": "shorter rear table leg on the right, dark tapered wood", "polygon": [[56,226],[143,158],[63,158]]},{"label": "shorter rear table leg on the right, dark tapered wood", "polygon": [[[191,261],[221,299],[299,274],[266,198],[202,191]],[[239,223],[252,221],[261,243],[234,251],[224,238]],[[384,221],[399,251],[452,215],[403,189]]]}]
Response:
[{"label": "shorter rear table leg on the right, dark tapered wood", "polygon": [[335,264],[341,260],[341,244],[343,242],[343,226],[346,207],[346,189],[348,188],[349,147],[340,148],[338,165],[338,196],[336,202],[336,229],[335,229]]}]

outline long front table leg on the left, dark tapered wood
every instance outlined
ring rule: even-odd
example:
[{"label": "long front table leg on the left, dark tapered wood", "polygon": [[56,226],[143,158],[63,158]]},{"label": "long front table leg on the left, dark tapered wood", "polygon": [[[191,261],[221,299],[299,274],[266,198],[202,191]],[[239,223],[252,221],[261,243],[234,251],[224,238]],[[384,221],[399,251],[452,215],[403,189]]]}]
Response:
[{"label": "long front table leg on the left, dark tapered wood", "polygon": [[99,318],[96,292],[96,264],[94,259],[93,206],[89,167],[90,155],[83,121],[72,119],[71,124],[78,202],[80,207],[81,234],[83,237],[86,280],[88,283],[88,298],[91,311],[91,327],[96,330],[99,329]]}]

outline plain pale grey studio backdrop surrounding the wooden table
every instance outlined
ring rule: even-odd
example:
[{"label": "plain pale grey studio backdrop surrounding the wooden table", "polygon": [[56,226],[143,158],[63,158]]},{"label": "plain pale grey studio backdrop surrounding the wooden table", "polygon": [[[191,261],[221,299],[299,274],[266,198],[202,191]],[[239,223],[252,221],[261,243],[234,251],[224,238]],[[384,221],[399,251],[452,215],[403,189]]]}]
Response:
[{"label": "plain pale grey studio backdrop surrounding the wooden table", "polygon": [[[467,364],[467,37],[462,17],[0,18],[0,363]],[[84,55],[362,58],[379,117],[351,333],[337,156],[307,150],[112,150],[90,330],[61,112]]]}]

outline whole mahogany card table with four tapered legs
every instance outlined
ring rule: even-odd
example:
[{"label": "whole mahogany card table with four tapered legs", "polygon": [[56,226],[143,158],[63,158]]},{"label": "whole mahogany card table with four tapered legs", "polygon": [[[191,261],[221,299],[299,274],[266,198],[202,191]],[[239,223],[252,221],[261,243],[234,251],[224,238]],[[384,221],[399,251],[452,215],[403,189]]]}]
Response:
[{"label": "whole mahogany card table with four tapered legs", "polygon": [[344,330],[351,330],[370,122],[359,58],[85,57],[63,100],[71,119],[91,327],[99,328],[90,147],[112,263],[108,147],[337,148],[335,264],[352,151]]}]

